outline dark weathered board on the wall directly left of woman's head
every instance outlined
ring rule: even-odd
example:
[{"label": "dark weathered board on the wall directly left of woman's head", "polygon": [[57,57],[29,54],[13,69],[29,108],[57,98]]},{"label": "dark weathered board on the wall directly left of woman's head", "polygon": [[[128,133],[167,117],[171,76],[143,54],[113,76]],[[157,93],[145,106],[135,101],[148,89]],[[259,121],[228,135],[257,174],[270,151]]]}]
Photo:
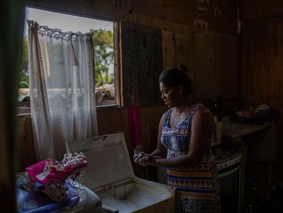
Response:
[{"label": "dark weathered board on the wall directly left of woman's head", "polygon": [[137,28],[137,68],[139,105],[160,105],[158,79],[163,71],[162,34],[152,27]]}]

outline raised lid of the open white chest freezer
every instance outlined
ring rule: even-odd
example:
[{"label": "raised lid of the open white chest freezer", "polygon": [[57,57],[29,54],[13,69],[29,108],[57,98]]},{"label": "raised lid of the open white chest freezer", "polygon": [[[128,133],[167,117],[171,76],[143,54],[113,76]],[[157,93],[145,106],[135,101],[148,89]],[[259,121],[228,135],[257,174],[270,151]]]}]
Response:
[{"label": "raised lid of the open white chest freezer", "polygon": [[123,133],[68,142],[67,149],[70,153],[83,152],[85,155],[84,185],[95,192],[135,178]]}]

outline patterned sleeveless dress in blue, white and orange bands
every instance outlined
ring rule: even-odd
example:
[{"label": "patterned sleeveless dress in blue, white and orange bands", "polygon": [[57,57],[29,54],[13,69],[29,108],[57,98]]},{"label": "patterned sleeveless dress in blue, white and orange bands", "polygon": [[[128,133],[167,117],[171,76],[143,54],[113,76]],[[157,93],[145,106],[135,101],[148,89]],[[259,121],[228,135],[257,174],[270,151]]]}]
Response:
[{"label": "patterned sleeveless dress in blue, white and orange bands", "polygon": [[[170,128],[171,110],[166,112],[161,142],[167,148],[167,158],[188,153],[193,115],[202,107],[201,103],[196,104],[175,128]],[[218,174],[211,147],[198,166],[168,168],[167,182],[176,187],[176,213],[221,212]]]}]

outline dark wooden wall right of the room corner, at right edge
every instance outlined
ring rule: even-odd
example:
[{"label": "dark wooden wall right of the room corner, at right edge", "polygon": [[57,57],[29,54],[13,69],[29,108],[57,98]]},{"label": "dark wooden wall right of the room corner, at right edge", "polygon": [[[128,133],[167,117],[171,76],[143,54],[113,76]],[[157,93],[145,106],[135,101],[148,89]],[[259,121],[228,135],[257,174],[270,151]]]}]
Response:
[{"label": "dark wooden wall right of the room corner, at right edge", "polygon": [[246,104],[275,109],[277,162],[283,180],[283,1],[241,1],[240,96]]}]

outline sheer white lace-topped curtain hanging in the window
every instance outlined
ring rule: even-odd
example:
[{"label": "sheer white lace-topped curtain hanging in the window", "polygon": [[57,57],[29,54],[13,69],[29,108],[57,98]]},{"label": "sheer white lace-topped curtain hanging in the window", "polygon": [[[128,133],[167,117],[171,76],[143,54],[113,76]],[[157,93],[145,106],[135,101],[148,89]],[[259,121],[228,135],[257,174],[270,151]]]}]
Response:
[{"label": "sheer white lace-topped curtain hanging in the window", "polygon": [[36,155],[61,160],[66,142],[98,135],[92,34],[27,22]]}]

